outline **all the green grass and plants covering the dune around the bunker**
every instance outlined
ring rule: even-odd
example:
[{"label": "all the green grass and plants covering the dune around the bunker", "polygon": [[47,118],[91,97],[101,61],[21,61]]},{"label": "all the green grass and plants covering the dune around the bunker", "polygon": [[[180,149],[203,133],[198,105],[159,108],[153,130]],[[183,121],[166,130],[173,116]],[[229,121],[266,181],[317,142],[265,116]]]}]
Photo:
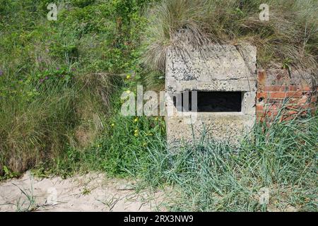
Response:
[{"label": "all the green grass and plants covering the dune around the bunker", "polygon": [[[317,211],[317,116],[256,124],[239,147],[170,152],[163,117],[124,117],[122,92],[163,90],[168,47],[250,42],[261,68],[317,72],[318,2],[0,0],[0,178],[100,171],[172,186],[170,210]],[[259,189],[269,189],[260,205]],[[177,197],[177,198],[175,198]]]}]

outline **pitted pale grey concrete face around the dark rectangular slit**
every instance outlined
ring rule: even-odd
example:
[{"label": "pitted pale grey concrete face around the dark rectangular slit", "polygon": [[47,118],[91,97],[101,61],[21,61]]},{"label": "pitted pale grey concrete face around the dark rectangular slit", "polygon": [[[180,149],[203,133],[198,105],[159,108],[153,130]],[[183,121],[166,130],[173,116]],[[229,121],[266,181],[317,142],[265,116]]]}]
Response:
[{"label": "pitted pale grey concrete face around the dark rectangular slit", "polygon": [[178,115],[173,102],[168,101],[167,109],[174,109],[166,118],[168,143],[192,141],[193,135],[200,138],[204,130],[209,138],[236,143],[247,133],[255,121],[256,63],[257,49],[247,44],[211,44],[203,52],[189,47],[184,54],[170,49],[165,73],[167,95],[186,90],[243,93],[242,112],[197,112],[193,124],[184,123],[189,117]]}]

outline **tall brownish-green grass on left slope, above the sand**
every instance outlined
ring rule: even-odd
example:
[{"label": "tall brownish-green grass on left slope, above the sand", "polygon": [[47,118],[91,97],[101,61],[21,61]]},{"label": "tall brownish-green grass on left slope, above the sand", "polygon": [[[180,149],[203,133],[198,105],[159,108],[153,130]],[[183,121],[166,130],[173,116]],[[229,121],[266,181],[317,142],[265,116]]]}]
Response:
[{"label": "tall brownish-green grass on left slope, above the sand", "polygon": [[[90,93],[92,85],[84,81],[71,85],[48,81],[37,87],[35,97],[25,97],[23,89],[30,89],[21,85],[20,92],[0,97],[1,169],[6,166],[24,172],[42,162],[53,162],[70,145],[81,149],[90,144],[97,136],[99,113],[107,107],[102,107],[97,94]],[[96,87],[93,85],[94,90]]]}]

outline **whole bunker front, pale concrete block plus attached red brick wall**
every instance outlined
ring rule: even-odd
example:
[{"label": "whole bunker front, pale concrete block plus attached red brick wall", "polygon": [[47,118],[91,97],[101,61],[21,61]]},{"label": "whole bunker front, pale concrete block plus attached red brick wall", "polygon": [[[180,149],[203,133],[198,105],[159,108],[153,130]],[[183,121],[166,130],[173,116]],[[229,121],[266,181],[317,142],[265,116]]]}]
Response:
[{"label": "whole bunker front, pale concrete block plus attached red brick wall", "polygon": [[[249,133],[256,119],[273,119],[282,108],[281,120],[314,114],[317,109],[317,75],[276,69],[257,71],[257,49],[249,44],[240,48],[211,44],[200,51],[189,47],[187,52],[170,48],[165,75],[167,96],[199,92],[199,111],[192,124],[189,114],[182,114],[183,109],[178,109],[171,98],[166,102],[167,109],[173,109],[166,117],[170,144],[192,141],[203,133],[217,141],[237,143]],[[218,107],[227,103],[236,108]]]}]

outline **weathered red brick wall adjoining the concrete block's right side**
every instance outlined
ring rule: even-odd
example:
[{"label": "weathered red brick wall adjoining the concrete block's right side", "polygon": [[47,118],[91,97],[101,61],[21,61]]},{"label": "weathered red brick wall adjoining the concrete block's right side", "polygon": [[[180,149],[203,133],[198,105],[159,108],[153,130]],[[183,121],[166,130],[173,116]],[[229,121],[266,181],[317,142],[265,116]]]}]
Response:
[{"label": "weathered red brick wall adjoining the concrete block's right side", "polygon": [[261,70],[257,81],[257,118],[280,120],[314,114],[317,107],[317,85],[308,74],[287,70]]}]

